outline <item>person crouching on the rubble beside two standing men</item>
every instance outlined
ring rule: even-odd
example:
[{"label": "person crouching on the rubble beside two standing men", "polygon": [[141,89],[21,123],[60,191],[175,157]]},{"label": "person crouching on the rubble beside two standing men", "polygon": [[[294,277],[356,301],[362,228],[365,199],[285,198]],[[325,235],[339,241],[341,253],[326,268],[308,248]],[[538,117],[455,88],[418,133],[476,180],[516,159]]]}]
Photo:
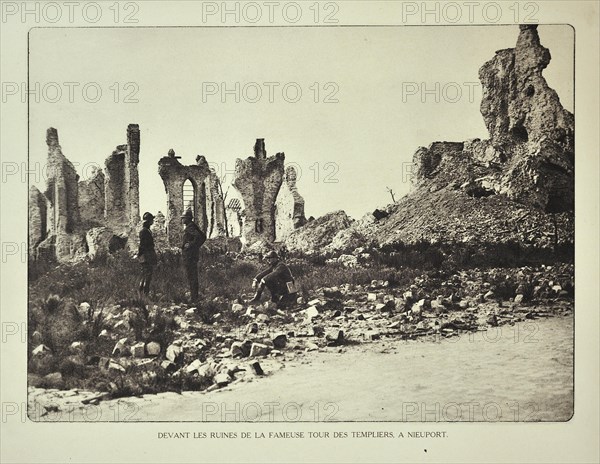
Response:
[{"label": "person crouching on the rubble beside two standing men", "polygon": [[296,283],[294,276],[287,265],[279,259],[279,255],[270,251],[264,257],[269,267],[254,277],[252,287],[256,288],[256,294],[249,303],[260,301],[263,290],[266,288],[271,292],[271,301],[278,306],[288,306],[296,299]]}]

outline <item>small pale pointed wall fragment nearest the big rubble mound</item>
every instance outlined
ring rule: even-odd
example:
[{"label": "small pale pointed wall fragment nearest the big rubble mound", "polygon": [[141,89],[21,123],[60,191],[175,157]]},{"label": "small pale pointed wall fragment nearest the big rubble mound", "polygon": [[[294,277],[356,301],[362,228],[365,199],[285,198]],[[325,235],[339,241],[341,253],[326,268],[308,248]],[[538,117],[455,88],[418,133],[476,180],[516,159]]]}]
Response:
[{"label": "small pale pointed wall fragment nearest the big rubble mound", "polygon": [[298,227],[306,224],[304,198],[296,186],[297,173],[293,166],[285,169],[284,182],[275,202],[275,239],[285,238]]}]

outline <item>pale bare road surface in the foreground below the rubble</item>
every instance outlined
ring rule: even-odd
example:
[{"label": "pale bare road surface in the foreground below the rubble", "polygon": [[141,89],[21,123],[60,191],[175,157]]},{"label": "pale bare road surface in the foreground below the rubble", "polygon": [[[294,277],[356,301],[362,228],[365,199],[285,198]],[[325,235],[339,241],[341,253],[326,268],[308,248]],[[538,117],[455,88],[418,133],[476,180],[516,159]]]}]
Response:
[{"label": "pale bare road surface in the foreground below the rubble", "polygon": [[[211,392],[82,405],[30,389],[40,421],[566,421],[573,413],[573,316],[451,339],[381,340],[261,362]],[[242,385],[243,384],[243,385]],[[51,403],[58,407],[48,407]],[[70,405],[70,406],[69,406]]]}]

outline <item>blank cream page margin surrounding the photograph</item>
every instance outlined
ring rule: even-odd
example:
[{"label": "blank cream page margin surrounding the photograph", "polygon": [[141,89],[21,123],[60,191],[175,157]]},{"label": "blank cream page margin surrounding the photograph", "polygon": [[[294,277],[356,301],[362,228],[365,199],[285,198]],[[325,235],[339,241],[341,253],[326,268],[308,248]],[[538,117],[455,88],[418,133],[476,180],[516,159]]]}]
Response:
[{"label": "blank cream page margin surrounding the photograph", "polygon": [[[2,2],[8,3],[8,2]],[[21,2],[13,2],[21,5]],[[33,2],[30,2],[30,4]],[[60,3],[60,2],[59,2]],[[85,2],[81,2],[82,4]],[[100,2],[106,12],[109,4]],[[139,1],[137,26],[206,26],[201,2]],[[219,2],[220,3],[220,2]],[[312,3],[312,2],[311,2]],[[403,2],[339,1],[339,24],[403,25]],[[432,4],[434,2],[428,2]],[[506,9],[514,2],[500,2]],[[175,431],[369,431],[376,423],[177,424],[32,423],[24,414],[3,417],[1,461],[17,462],[599,462],[598,318],[598,2],[539,1],[540,24],[571,24],[576,30],[576,317],[575,415],[567,423],[387,424],[398,431],[446,431],[437,440],[201,440],[160,441],[157,432]],[[419,2],[421,4],[421,2]],[[306,4],[303,4],[306,8]],[[193,14],[191,14],[193,13]],[[429,22],[428,22],[429,21]],[[476,22],[477,23],[477,22]],[[500,21],[499,24],[503,22]],[[210,23],[209,23],[210,24]],[[278,20],[274,25],[288,25]],[[300,22],[299,24],[302,24]],[[310,23],[309,23],[310,24]],[[444,24],[437,23],[436,25]],[[450,23],[446,23],[450,24]],[[470,24],[461,21],[458,24]],[[485,25],[480,22],[478,24]],[[508,24],[508,23],[507,23]],[[510,23],[514,24],[514,23]],[[59,25],[65,25],[59,23]],[[68,26],[89,26],[76,15]],[[108,25],[108,24],[104,24]],[[114,25],[114,24],[113,24]],[[1,27],[1,80],[27,81],[27,33],[49,23],[7,21]],[[512,45],[509,45],[512,46]],[[465,44],[468,53],[468,44]],[[2,163],[27,160],[27,105],[2,103]],[[112,143],[112,142],[111,142]],[[108,146],[110,148],[110,146]],[[67,154],[68,156],[68,154]],[[17,176],[18,177],[18,176]],[[27,243],[27,184],[14,178],[0,184],[1,241]],[[3,256],[2,324],[27,321],[26,263]],[[10,337],[1,344],[1,402],[26,405],[26,344]],[[424,448],[428,453],[424,453]]]}]

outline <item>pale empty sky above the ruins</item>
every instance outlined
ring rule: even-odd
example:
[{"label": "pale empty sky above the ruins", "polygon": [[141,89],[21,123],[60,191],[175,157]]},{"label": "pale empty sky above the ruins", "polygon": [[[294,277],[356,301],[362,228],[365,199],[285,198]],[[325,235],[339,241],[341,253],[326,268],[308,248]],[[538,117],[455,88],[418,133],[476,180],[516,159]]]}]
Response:
[{"label": "pale empty sky above the ruins", "polygon": [[[538,31],[552,54],[544,75],[573,111],[573,31]],[[396,198],[408,192],[403,163],[419,146],[487,138],[478,71],[496,50],[514,47],[518,33],[518,26],[34,29],[30,82],[46,98],[30,98],[30,163],[45,163],[46,129],[55,127],[63,153],[86,177],[137,123],[140,209],[165,212],[157,161],[169,148],[184,164],[206,156],[220,175],[230,171],[228,184],[235,158],[264,138],[269,155],[283,151],[300,168],[307,216],[344,209],[359,218],[391,202],[386,187]],[[98,102],[85,100],[86,84],[87,99],[101,89]],[[286,84],[288,99],[302,90],[297,102],[284,98]],[[223,85],[234,90],[225,102]],[[338,101],[324,103],[333,92]],[[126,103],[128,96],[138,101]],[[30,179],[43,190],[41,177]]]}]

